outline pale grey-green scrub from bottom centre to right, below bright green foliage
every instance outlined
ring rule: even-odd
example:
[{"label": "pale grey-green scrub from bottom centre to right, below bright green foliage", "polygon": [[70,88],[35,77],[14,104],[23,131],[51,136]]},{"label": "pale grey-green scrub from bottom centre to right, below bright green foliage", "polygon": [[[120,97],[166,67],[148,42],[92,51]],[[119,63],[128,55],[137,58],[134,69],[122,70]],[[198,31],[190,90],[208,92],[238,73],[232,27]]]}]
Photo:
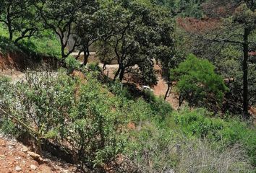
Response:
[{"label": "pale grey-green scrub from bottom centre to right, below bright green foliage", "polygon": [[182,137],[147,122],[127,147],[133,170],[124,172],[252,172],[244,147]]}]

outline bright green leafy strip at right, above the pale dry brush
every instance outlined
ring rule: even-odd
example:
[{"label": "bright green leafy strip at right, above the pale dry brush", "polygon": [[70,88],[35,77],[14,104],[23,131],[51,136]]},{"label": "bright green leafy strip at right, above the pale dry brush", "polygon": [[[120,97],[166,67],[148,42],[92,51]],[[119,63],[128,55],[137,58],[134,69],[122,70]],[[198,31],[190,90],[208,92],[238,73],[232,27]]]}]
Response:
[{"label": "bright green leafy strip at right, above the pale dry brush", "polygon": [[184,110],[175,114],[175,122],[187,136],[197,136],[225,146],[242,143],[249,159],[256,165],[256,131],[240,120],[223,120],[212,116],[206,110]]}]

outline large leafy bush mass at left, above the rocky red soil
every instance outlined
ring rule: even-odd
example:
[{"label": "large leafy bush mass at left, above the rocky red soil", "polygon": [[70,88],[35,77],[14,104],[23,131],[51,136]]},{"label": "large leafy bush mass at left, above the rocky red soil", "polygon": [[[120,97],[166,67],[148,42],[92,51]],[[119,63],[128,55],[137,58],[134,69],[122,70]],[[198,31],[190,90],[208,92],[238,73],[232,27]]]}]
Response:
[{"label": "large leafy bush mass at left, above the rocky red soil", "polygon": [[14,132],[29,133],[38,150],[44,140],[54,141],[91,168],[124,150],[129,122],[155,116],[148,103],[108,92],[93,74],[80,81],[61,72],[27,73],[15,86],[1,82],[0,97],[6,100],[0,108]]}]

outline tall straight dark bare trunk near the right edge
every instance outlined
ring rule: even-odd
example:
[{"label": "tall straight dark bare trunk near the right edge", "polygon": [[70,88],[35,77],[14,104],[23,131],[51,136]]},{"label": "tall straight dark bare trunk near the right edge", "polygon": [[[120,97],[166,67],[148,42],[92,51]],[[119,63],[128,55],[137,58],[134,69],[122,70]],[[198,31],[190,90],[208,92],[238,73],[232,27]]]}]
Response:
[{"label": "tall straight dark bare trunk near the right edge", "polygon": [[244,59],[243,59],[243,115],[245,119],[249,119],[248,114],[248,52],[249,52],[249,43],[248,43],[248,37],[249,37],[249,29],[244,29],[244,43],[243,43],[243,53],[244,53]]}]

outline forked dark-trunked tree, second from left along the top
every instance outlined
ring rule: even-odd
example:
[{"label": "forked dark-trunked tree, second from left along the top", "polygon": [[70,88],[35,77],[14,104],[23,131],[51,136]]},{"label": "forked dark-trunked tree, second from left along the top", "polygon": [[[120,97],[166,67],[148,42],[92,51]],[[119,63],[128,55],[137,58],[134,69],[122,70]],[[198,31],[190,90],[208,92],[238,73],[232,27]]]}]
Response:
[{"label": "forked dark-trunked tree, second from left along the top", "polygon": [[[51,29],[58,35],[61,43],[61,57],[67,58],[78,46],[80,40],[77,33],[74,32],[74,25],[77,23],[78,14],[85,6],[94,2],[82,0],[38,0],[35,4],[40,17],[48,29]],[[73,40],[69,50],[67,45]]]}]

